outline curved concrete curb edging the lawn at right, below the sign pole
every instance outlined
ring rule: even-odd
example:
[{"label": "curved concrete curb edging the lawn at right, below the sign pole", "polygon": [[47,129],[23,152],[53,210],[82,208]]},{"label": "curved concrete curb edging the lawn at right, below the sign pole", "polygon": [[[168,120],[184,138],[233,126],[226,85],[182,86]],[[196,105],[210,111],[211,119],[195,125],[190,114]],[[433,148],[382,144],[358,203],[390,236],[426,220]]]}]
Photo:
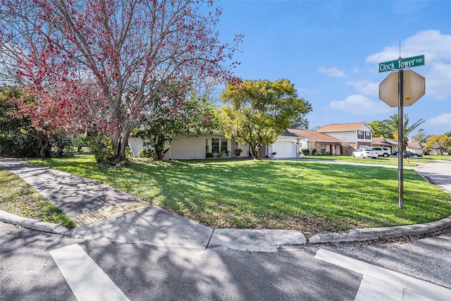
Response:
[{"label": "curved concrete curb edging the lawn at right, below the sign pole", "polygon": [[378,238],[397,238],[400,236],[420,235],[451,227],[451,216],[440,221],[421,223],[419,225],[351,229],[349,233],[324,233],[312,236],[309,243],[353,242],[377,240]]}]

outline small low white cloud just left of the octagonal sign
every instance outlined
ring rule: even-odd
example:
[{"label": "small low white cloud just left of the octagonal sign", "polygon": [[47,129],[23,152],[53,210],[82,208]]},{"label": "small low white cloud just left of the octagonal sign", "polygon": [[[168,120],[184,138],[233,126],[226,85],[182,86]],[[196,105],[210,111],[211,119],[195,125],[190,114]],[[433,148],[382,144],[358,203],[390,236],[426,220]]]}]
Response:
[{"label": "small low white cloud just left of the octagonal sign", "polygon": [[351,95],[343,101],[334,101],[329,103],[329,107],[354,115],[373,116],[379,113],[388,113],[391,108],[382,101],[373,102],[363,95]]}]

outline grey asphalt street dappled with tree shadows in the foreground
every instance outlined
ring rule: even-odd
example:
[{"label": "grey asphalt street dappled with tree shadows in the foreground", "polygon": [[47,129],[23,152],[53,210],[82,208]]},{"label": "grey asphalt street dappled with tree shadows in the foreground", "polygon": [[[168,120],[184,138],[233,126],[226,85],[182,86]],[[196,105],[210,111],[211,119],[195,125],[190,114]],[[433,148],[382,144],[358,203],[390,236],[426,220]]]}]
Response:
[{"label": "grey asphalt street dappled with tree shadows in the foreground", "polygon": [[[63,276],[52,256],[64,247],[86,253],[106,274],[105,285],[117,285],[125,300],[354,300],[362,274],[316,259],[320,249],[451,288],[450,231],[403,243],[304,245],[271,253],[84,240],[7,223],[0,223],[0,233],[0,300],[102,294],[101,280],[92,269],[82,271],[75,254]],[[104,300],[124,300],[103,294]]]}]

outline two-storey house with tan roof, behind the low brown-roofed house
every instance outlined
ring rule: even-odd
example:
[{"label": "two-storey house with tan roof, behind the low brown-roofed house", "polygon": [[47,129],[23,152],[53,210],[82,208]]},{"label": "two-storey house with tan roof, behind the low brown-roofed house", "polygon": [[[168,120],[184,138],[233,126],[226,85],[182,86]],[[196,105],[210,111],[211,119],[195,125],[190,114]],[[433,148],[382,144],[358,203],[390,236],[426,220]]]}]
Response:
[{"label": "two-storey house with tan roof, behind the low brown-roofed house", "polygon": [[[316,132],[342,140],[354,149],[371,146],[373,135],[373,130],[364,122],[324,125]],[[347,154],[350,150],[346,149],[342,154]]]}]

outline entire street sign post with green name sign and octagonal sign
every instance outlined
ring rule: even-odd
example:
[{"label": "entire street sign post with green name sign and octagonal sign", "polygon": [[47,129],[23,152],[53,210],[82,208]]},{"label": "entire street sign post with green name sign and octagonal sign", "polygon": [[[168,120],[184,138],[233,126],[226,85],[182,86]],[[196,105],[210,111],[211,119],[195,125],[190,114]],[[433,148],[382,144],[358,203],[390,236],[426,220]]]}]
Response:
[{"label": "entire street sign post with green name sign and octagonal sign", "polygon": [[[398,207],[404,207],[404,173],[403,173],[403,157],[404,157],[404,106],[412,106],[414,102],[420,99],[426,92],[426,80],[421,75],[414,73],[412,70],[404,70],[410,67],[423,66],[424,55],[412,56],[407,59],[397,59],[396,61],[388,61],[379,63],[379,72],[397,71],[390,73],[379,84],[379,99],[385,104],[395,107],[397,106],[397,199]],[[397,94],[397,102],[396,102]],[[405,101],[405,104],[404,104]]]}]

